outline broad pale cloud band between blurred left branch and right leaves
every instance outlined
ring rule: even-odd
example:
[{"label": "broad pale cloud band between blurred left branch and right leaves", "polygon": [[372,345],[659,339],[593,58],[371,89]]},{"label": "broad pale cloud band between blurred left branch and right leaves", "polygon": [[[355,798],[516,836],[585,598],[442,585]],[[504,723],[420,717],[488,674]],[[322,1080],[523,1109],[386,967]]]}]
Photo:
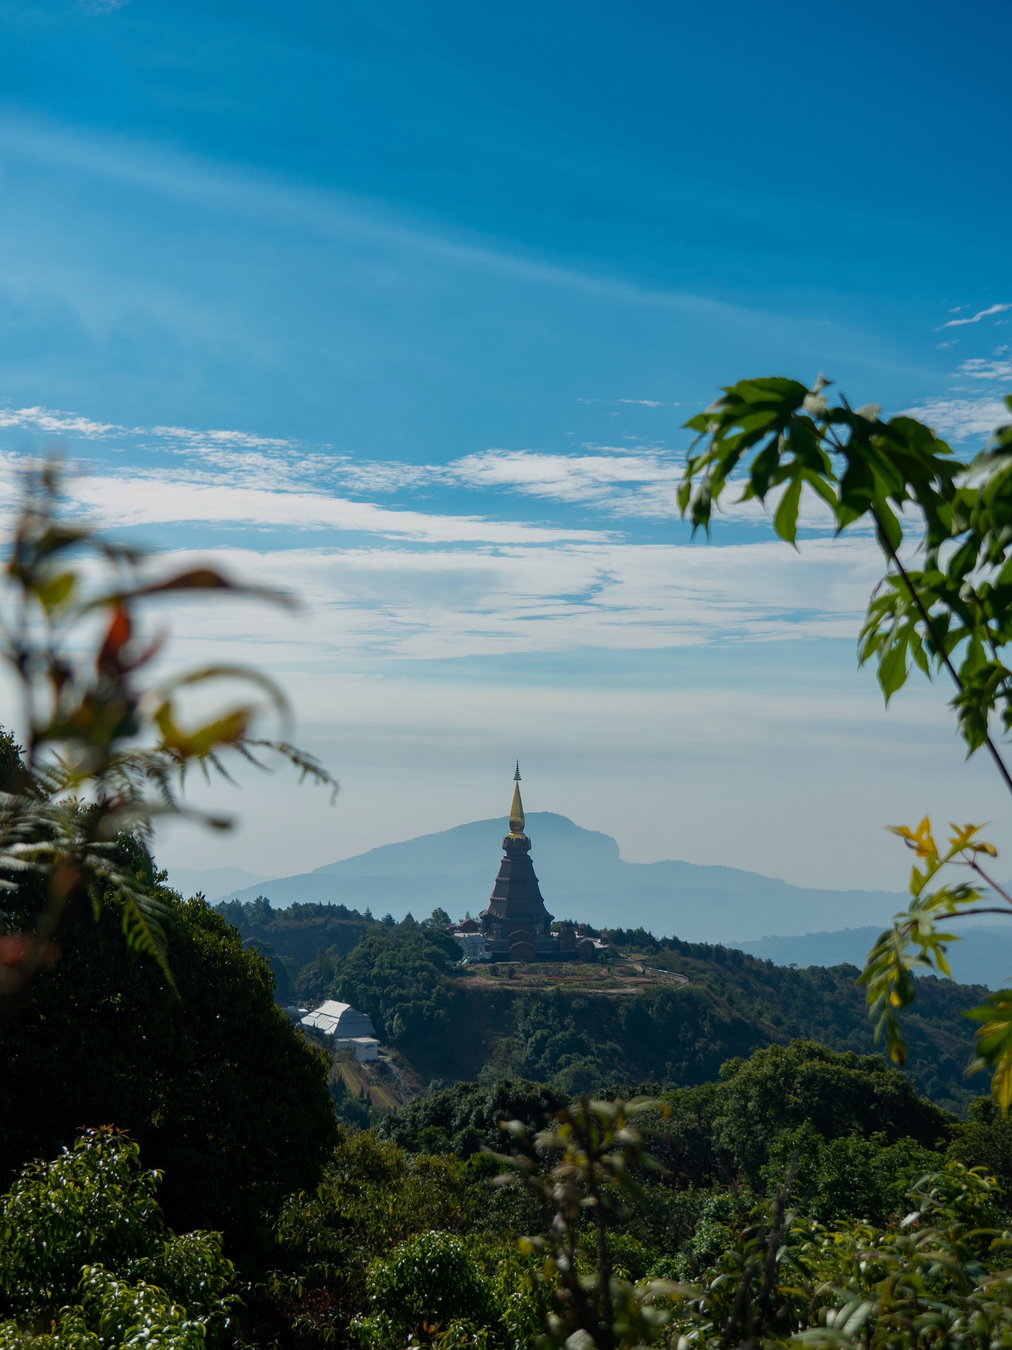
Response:
[{"label": "broad pale cloud band between blurred left branch and right leaves", "polygon": [[[189,640],[213,634],[236,644],[236,659],[308,668],[376,656],[854,637],[882,571],[870,539],[812,540],[800,555],[770,541],[718,548],[602,540],[494,552],[363,547],[198,556],[301,595],[306,613],[258,612],[254,629],[232,606],[188,609]],[[184,643],[179,659],[189,655]]]}]

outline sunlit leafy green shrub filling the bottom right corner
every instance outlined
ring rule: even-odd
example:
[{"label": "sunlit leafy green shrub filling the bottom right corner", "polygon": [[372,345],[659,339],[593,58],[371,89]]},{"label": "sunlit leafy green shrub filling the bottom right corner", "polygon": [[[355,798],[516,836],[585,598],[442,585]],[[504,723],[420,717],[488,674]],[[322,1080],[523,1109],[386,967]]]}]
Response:
[{"label": "sunlit leafy green shrub filling the bottom right corner", "polygon": [[676,1297],[672,1341],[980,1350],[1012,1339],[1012,1235],[993,1180],[950,1162],[924,1173],[896,1224],[812,1222],[765,1199],[722,1224],[718,1257]]}]

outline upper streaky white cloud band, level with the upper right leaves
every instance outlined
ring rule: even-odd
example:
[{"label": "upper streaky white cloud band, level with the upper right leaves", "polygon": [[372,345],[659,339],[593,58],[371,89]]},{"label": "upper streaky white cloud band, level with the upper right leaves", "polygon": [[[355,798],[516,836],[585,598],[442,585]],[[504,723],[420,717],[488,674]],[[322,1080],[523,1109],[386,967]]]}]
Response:
[{"label": "upper streaky white cloud band, level with the upper right leaves", "polygon": [[[447,487],[586,505],[619,520],[679,516],[681,454],[642,444],[636,450],[594,446],[583,454],[490,448],[448,464],[412,464],[355,460],[327,447],[308,447],[244,431],[131,428],[45,408],[0,413],[0,431],[4,428],[62,435],[72,444],[74,440],[104,441],[107,448],[130,446],[148,456],[182,458],[185,471],[167,466],[111,471],[89,450],[93,477],[80,481],[78,500],[100,505],[111,494],[119,497],[125,491],[123,510],[119,513],[117,508],[116,518],[131,526],[206,521],[236,528],[354,529],[426,543],[483,540],[506,544],[548,537],[542,526],[491,522],[482,514],[391,510],[354,500],[405,491],[425,494]],[[758,502],[739,505],[729,500],[725,510],[739,521],[766,520]],[[833,524],[819,504],[807,501],[803,522],[810,528],[831,528]],[[552,532],[555,540],[576,537],[598,537],[598,532]]]}]

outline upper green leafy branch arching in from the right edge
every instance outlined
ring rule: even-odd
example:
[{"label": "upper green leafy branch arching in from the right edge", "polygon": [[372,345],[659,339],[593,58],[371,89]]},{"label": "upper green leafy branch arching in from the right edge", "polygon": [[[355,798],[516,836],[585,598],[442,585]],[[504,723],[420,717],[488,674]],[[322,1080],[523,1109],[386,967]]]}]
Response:
[{"label": "upper green leafy branch arching in from the right edge", "polygon": [[[878,664],[887,702],[913,664],[945,670],[967,752],[986,745],[1005,786],[1012,775],[990,736],[999,714],[1012,728],[1012,423],[967,464],[912,417],[882,421],[876,404],[830,404],[828,381],[742,379],[725,387],[685,425],[699,436],[679,490],[683,517],[708,532],[714,506],[741,486],[739,501],[776,490],[773,528],[796,545],[807,491],[833,516],[837,533],[872,524],[887,558],[861,630],[858,656]],[[1012,412],[1012,397],[1005,398]],[[700,447],[700,441],[704,444]],[[700,447],[700,448],[698,448]],[[900,554],[912,522],[920,568]],[[957,664],[958,663],[958,664]]]}]

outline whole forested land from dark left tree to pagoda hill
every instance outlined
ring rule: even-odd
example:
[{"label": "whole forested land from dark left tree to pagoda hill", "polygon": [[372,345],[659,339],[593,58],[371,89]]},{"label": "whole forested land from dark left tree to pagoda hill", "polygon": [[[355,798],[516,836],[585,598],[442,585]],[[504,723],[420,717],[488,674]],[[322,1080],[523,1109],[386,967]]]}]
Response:
[{"label": "whole forested land from dark left tree to pagoda hill", "polygon": [[[591,1108],[576,1094],[591,1089],[594,1130],[638,1187],[609,1200],[607,1220],[630,1316],[646,1318],[661,1288],[650,1281],[695,1280],[719,1297],[721,1272],[757,1223],[769,1227],[787,1174],[792,1233],[860,1223],[862,1242],[892,1242],[911,1203],[976,1228],[1012,1222],[1001,1192],[966,1170],[1012,1184],[1012,1129],[994,1102],[959,1119],[970,1089],[958,1013],[973,990],[919,987],[903,1073],[866,1053],[853,967],[791,971],[640,930],[615,934],[594,964],[449,968],[457,949],[439,913],[393,923],[266,902],[231,910],[240,938],[225,914],[169,891],[138,841],[123,837],[117,856],[165,906],[175,990],[123,950],[109,895],[3,1033],[7,1350],[46,1350],[19,1330],[43,1323],[50,1350],[128,1336],[166,1350],[397,1350],[416,1330],[444,1350],[464,1338],[533,1346],[561,1268],[526,1237],[546,1223],[542,1203],[522,1184],[493,1185],[503,1161],[483,1150],[518,1150],[528,1174],[526,1148],[534,1184],[552,1157],[525,1131],[584,1129]],[[337,1066],[277,1006],[258,945],[290,963],[293,983],[364,1008],[428,1089],[382,1119],[337,1091]],[[618,1099],[634,1092],[658,1166],[636,1130],[615,1133]],[[567,1222],[588,1278],[599,1234],[579,1206]],[[815,1251],[797,1277],[822,1288],[830,1272]],[[101,1345],[74,1339],[99,1331]]]}]

